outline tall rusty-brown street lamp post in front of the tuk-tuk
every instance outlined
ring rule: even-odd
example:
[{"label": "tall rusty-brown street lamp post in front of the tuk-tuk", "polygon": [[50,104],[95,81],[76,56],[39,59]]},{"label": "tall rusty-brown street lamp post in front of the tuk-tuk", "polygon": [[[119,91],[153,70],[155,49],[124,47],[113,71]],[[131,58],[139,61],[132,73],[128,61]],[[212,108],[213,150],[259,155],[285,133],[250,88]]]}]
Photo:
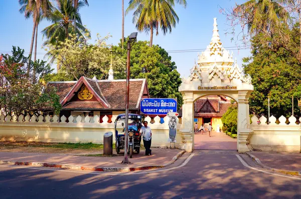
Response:
[{"label": "tall rusty-brown street lamp post in front of the tuk-tuk", "polygon": [[124,135],[124,158],[122,163],[130,163],[127,157],[127,145],[128,145],[128,103],[129,103],[129,62],[130,62],[130,42],[134,42],[137,39],[137,33],[132,33],[128,36],[127,41],[127,61],[126,61],[126,91],[125,91],[125,135]]}]

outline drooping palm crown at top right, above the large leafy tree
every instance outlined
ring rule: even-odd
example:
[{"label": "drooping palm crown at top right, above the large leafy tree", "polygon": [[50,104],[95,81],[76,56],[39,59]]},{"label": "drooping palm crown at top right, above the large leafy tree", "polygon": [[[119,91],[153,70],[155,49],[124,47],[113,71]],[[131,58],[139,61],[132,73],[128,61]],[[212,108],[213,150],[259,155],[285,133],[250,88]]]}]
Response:
[{"label": "drooping palm crown at top right, above the large leafy tree", "polygon": [[249,0],[237,5],[233,14],[247,22],[248,33],[269,35],[288,18],[286,10],[274,0]]}]

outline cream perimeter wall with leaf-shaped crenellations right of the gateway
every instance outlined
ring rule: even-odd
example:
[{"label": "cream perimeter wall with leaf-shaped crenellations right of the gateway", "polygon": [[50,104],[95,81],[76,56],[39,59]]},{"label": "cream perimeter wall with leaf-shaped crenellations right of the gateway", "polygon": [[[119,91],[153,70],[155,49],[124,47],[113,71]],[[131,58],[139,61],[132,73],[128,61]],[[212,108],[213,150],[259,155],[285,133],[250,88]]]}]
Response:
[{"label": "cream perimeter wall with leaf-shaped crenellations right of the gateway", "polygon": [[[300,118],[301,119],[301,118]],[[289,124],[286,118],[281,116],[276,124],[276,118],[270,117],[270,123],[266,124],[266,118],[256,116],[251,118],[253,135],[250,138],[250,145],[255,150],[262,151],[300,151],[301,125],[296,124],[296,118],[290,116]],[[260,122],[258,122],[260,121]],[[258,124],[259,123],[259,124]]]}]

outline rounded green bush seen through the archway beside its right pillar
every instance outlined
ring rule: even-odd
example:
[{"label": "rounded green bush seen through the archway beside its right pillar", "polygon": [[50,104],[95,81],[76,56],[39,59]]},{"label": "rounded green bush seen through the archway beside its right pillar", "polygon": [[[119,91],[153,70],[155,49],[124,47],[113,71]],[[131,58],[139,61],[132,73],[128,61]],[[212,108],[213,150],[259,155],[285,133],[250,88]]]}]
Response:
[{"label": "rounded green bush seen through the archway beside its right pillar", "polygon": [[223,131],[237,133],[237,105],[232,104],[222,117]]}]

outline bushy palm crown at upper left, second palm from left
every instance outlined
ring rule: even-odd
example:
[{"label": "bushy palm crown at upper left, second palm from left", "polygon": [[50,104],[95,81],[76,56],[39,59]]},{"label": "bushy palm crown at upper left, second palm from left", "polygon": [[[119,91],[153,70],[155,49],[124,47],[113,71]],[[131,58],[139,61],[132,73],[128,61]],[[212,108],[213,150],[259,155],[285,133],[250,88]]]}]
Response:
[{"label": "bushy palm crown at upper left, second palm from left", "polygon": [[[78,2],[77,8],[83,7],[82,1]],[[76,29],[72,25],[71,19],[75,18]],[[42,30],[43,37],[48,40],[44,43],[56,44],[59,41],[68,39],[69,34],[82,36],[86,28],[82,25],[81,17],[73,6],[72,0],[58,0],[58,8],[48,17],[52,25]]]}]

